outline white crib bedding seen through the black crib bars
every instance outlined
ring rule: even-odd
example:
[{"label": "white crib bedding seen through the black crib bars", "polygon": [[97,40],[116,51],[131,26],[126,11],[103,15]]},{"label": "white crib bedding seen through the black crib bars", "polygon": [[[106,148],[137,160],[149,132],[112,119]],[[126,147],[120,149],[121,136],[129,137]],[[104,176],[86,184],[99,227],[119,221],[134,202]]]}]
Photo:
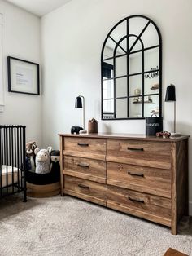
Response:
[{"label": "white crib bedding seen through the black crib bars", "polygon": [[[13,175],[12,175],[13,171]],[[8,176],[8,177],[7,177]],[[0,177],[1,178],[1,177]],[[21,171],[19,169],[19,179],[21,179]],[[2,188],[18,181],[18,168],[2,165]]]}]

